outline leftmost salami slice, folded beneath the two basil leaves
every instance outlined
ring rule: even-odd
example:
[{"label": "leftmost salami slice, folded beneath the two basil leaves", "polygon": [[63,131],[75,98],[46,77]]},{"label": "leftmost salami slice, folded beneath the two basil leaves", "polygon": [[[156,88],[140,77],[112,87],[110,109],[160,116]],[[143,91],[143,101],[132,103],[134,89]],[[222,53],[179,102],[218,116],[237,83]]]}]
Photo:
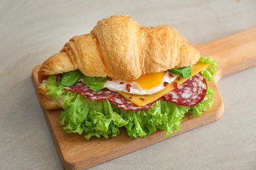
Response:
[{"label": "leftmost salami slice, folded beneath the two basil leaves", "polygon": [[64,90],[79,93],[92,101],[106,101],[110,100],[110,98],[114,96],[119,95],[117,92],[110,91],[108,89],[92,91],[86,84],[83,84],[82,82],[76,83],[71,87],[65,87]]}]

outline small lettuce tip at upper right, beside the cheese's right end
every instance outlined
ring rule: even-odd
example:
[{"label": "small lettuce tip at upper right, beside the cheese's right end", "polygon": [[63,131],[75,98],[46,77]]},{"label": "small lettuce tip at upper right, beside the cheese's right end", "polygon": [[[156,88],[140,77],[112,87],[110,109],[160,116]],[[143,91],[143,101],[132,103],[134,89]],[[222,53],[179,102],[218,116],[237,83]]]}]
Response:
[{"label": "small lettuce tip at upper right, beside the cheese's right end", "polygon": [[201,57],[199,61],[210,63],[210,65],[206,69],[203,69],[201,73],[206,77],[206,81],[213,81],[213,75],[217,75],[217,60],[213,60],[210,57]]}]

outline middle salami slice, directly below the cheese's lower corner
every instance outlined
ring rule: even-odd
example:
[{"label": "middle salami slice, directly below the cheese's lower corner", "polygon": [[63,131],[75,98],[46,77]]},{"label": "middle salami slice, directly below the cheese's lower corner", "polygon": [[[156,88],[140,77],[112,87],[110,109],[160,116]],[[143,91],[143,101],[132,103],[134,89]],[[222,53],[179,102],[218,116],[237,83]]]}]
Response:
[{"label": "middle salami slice, directly below the cheese's lower corner", "polygon": [[110,101],[117,106],[118,108],[122,108],[126,111],[145,111],[149,108],[153,108],[156,104],[156,101],[146,104],[144,106],[137,106],[136,104],[132,103],[132,101],[128,101],[121,95],[115,96],[114,98],[110,98]]}]

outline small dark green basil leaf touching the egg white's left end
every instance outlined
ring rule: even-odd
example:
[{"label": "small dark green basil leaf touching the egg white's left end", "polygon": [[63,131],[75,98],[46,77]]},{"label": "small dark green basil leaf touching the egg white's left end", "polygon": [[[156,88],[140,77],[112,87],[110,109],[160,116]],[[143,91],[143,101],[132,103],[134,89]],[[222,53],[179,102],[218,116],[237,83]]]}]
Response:
[{"label": "small dark green basil leaf touching the egg white's left end", "polygon": [[104,84],[107,81],[107,77],[84,77],[84,83],[89,86],[93,91],[100,91],[103,89]]}]

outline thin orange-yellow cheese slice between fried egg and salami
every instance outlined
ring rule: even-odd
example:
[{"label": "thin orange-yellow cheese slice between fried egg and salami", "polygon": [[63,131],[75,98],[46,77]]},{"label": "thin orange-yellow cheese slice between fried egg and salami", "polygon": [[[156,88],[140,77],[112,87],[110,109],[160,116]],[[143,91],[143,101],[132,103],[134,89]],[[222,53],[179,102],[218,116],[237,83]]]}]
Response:
[{"label": "thin orange-yellow cheese slice between fried egg and salami", "polygon": [[[194,75],[198,74],[198,72],[201,72],[203,69],[208,67],[210,63],[205,63],[205,62],[197,62],[196,64],[193,65],[192,70],[191,70],[191,77]],[[136,104],[137,106],[144,106],[148,103],[151,103],[153,101],[156,101],[158,98],[161,96],[164,96],[165,94],[169,93],[169,91],[172,91],[174,89],[174,84],[177,84],[177,86],[183,84],[186,80],[190,79],[191,77],[188,78],[182,78],[178,76],[171,84],[166,86],[165,89],[157,92],[156,94],[151,94],[151,95],[138,95],[138,94],[127,94],[124,92],[120,92],[124,98],[127,98],[127,100],[132,101],[132,103]]]}]

